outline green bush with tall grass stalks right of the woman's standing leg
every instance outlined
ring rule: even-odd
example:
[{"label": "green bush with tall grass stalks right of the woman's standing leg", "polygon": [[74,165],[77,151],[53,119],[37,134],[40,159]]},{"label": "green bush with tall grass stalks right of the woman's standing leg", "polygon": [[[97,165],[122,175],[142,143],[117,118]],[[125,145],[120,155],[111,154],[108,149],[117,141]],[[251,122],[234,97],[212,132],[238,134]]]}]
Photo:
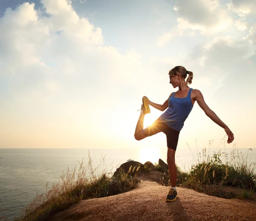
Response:
[{"label": "green bush with tall grass stalks right of the woman's standing leg", "polygon": [[[248,152],[247,156],[244,157],[241,152],[238,152],[234,144],[229,162],[227,161],[226,150],[223,154],[225,154],[225,164],[220,159],[220,151],[210,157],[206,154],[206,148],[204,148],[202,155],[199,153],[198,164],[192,165],[188,180],[183,182],[182,186],[223,198],[233,198],[237,195],[233,192],[224,191],[223,185],[250,189],[250,192],[255,191],[256,174],[253,171],[256,164],[247,166]],[[246,196],[246,194],[243,195]]]}]

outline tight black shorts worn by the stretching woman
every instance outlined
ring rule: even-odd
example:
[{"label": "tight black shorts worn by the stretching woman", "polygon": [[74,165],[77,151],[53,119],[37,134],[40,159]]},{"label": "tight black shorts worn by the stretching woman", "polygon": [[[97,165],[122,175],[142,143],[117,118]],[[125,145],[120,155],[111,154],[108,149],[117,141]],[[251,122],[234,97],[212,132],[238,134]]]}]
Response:
[{"label": "tight black shorts worn by the stretching woman", "polygon": [[163,132],[166,134],[167,147],[176,150],[180,131],[172,129],[166,123],[161,121],[160,118],[157,118],[157,120],[154,121],[154,123],[143,129],[143,134],[146,137],[152,136],[159,132]]}]

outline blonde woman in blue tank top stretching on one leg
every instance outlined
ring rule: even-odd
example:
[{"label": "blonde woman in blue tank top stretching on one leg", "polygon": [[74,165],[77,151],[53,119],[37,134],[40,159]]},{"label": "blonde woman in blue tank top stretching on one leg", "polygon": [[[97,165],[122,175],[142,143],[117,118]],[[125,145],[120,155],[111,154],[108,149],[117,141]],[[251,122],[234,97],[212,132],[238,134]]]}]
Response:
[{"label": "blonde woman in blue tank top stretching on one leg", "polygon": [[[185,81],[187,75],[189,77]],[[215,123],[221,126],[228,135],[227,143],[230,144],[234,140],[234,135],[228,126],[221,121],[220,118],[207,106],[204,102],[202,93],[197,89],[189,88],[188,84],[192,83],[193,73],[187,71],[183,66],[176,66],[169,71],[170,83],[174,88],[178,87],[177,92],[173,92],[169,98],[161,104],[153,103],[147,97],[143,97],[140,118],[138,120],[134,137],[140,141],[148,136],[163,132],[167,139],[167,164],[169,167],[169,175],[172,187],[166,197],[166,201],[175,201],[177,198],[176,179],[177,169],[175,165],[175,151],[177,148],[180,130],[184,125],[184,121],[191,112],[195,101],[204,110],[205,114]],[[145,114],[150,112],[149,105],[164,111],[160,117],[150,126],[143,129],[143,121]]]}]

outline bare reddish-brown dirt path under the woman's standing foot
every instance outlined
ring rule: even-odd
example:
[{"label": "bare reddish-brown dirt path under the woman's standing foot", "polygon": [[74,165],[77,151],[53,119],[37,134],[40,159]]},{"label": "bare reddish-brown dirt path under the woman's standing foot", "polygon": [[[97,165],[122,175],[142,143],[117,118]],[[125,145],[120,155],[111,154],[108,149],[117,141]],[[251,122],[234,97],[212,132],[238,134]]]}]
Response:
[{"label": "bare reddish-brown dirt path under the woman's standing foot", "polygon": [[119,195],[84,200],[51,221],[256,221],[256,202],[228,200],[177,187],[178,198],[166,202],[167,187],[142,181]]}]

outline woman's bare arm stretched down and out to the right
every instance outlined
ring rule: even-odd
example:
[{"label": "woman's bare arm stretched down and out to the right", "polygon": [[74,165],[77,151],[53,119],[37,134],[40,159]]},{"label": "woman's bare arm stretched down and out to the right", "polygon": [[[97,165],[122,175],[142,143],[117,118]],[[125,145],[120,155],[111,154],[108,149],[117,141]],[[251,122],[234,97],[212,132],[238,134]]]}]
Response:
[{"label": "woman's bare arm stretched down and out to the right", "polygon": [[228,126],[225,123],[223,123],[221,121],[220,118],[218,118],[218,116],[215,114],[215,112],[213,112],[209,108],[209,106],[207,106],[207,104],[204,101],[204,97],[203,97],[201,91],[194,89],[194,93],[195,93],[195,100],[197,101],[198,105],[203,109],[205,114],[209,118],[211,118],[212,121],[217,123],[219,126],[221,126],[225,130],[225,132],[227,133],[227,136],[228,136],[227,143],[230,144],[234,140],[234,135],[233,135],[232,131],[228,128]]}]

